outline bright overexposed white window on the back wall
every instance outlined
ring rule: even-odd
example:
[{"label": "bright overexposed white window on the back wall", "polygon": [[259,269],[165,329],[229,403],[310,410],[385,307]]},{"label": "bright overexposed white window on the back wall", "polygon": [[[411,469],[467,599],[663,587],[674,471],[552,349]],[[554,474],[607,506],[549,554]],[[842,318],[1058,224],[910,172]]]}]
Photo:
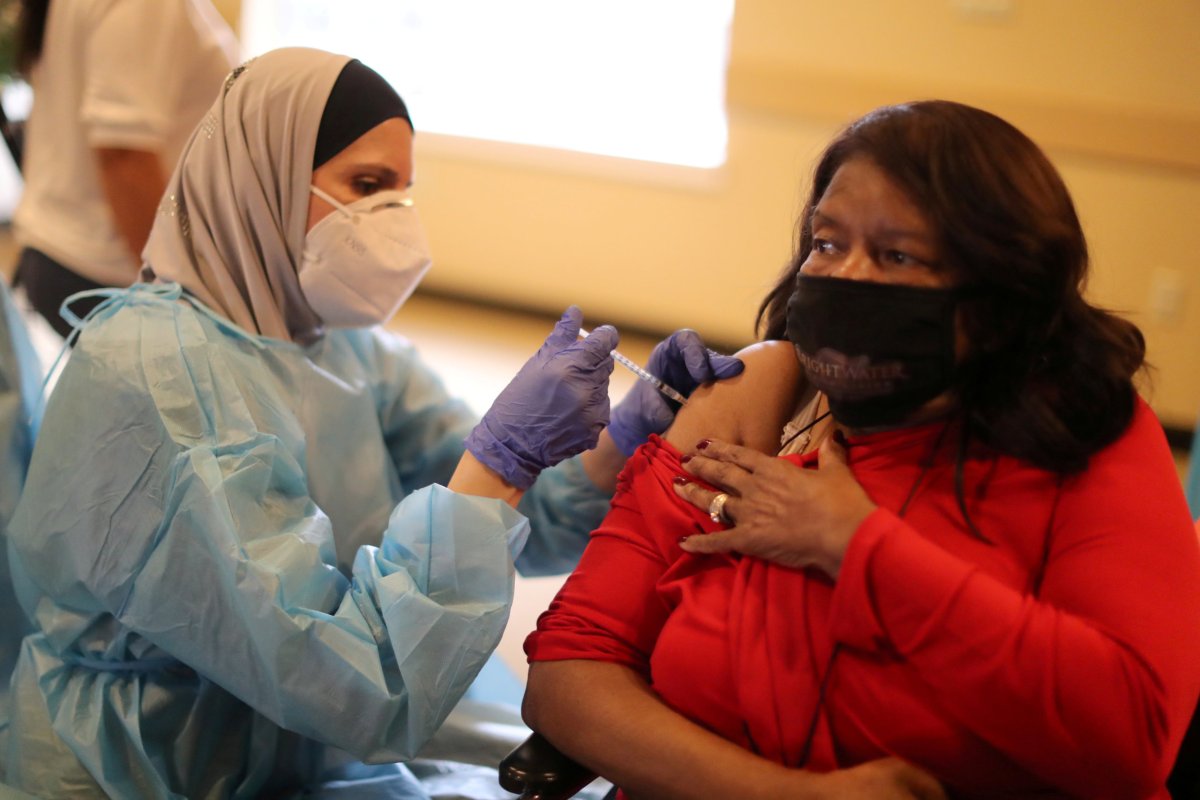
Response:
[{"label": "bright overexposed white window on the back wall", "polygon": [[242,0],[247,55],[360,59],[418,131],[712,169],[733,0]]}]

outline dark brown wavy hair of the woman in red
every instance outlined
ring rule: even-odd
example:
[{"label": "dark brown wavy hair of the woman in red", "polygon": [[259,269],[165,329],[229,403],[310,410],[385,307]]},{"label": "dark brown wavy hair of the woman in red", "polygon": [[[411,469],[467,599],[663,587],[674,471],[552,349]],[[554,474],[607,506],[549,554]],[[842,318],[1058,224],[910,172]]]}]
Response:
[{"label": "dark brown wavy hair of the woman in red", "polygon": [[1145,341],[1084,300],[1087,242],[1070,194],[1045,154],[995,114],[904,103],[839,134],[817,163],[796,254],[758,309],[762,337],[785,338],[812,210],[851,158],[869,158],[924,211],[964,290],[961,452],[971,438],[1057,473],[1086,468],[1133,417]]}]

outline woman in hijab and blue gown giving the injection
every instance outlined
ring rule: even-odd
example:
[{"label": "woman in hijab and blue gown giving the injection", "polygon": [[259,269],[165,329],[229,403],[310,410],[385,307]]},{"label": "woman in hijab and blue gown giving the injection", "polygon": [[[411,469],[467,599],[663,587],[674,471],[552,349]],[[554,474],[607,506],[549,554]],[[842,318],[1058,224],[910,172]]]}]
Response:
[{"label": "woman in hijab and blue gown giving the injection", "polygon": [[[12,524],[37,632],[10,786],[427,796],[335,748],[412,758],[496,646],[512,558],[571,565],[596,481],[670,421],[635,390],[600,434],[617,333],[578,339],[574,307],[474,427],[376,325],[430,266],[412,138],[379,76],[310,49],[235,70],[200,122],[145,282],[83,325]],[[683,391],[740,369],[689,333],[653,361]]]}]

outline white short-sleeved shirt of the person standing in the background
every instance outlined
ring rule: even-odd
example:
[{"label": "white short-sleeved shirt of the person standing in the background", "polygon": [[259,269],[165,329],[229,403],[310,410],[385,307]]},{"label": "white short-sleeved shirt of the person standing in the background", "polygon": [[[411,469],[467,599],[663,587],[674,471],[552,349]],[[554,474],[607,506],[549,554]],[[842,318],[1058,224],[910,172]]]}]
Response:
[{"label": "white short-sleeved shirt of the person standing in the background", "polygon": [[106,285],[137,278],[94,148],[158,154],[174,169],[236,64],[209,0],[54,0],[32,70],[17,241]]}]

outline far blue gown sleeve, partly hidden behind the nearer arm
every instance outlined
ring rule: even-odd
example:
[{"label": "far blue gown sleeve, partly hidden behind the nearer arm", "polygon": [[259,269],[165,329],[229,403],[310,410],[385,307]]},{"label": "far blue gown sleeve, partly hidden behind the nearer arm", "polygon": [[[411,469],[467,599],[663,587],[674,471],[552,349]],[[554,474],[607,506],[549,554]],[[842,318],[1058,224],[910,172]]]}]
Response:
[{"label": "far blue gown sleeve, partly hidden behind the nearer arm", "polygon": [[[382,330],[370,336],[370,371],[379,377],[379,416],[401,481],[407,487],[445,485],[476,417],[446,392],[407,341]],[[520,505],[530,523],[528,545],[517,558],[521,573],[575,569],[611,499],[583,471],[580,457],[545,470]]]}]

